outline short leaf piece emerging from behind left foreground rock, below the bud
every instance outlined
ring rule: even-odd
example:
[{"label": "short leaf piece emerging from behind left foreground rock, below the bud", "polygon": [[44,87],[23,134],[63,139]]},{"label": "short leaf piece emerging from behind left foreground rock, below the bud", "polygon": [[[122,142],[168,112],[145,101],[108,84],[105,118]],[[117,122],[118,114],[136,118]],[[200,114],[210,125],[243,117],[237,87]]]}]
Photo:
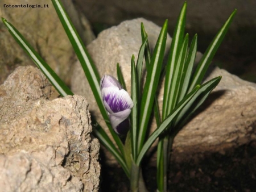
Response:
[{"label": "short leaf piece emerging from behind left foreground rock, below the bud", "polygon": [[101,141],[102,144],[114,155],[116,160],[122,166],[125,174],[128,178],[130,178],[130,170],[128,169],[125,159],[123,156],[118,152],[117,148],[115,148],[112,140],[109,139],[109,136],[103,130],[102,127],[94,128],[93,133],[97,136],[97,138]]}]

